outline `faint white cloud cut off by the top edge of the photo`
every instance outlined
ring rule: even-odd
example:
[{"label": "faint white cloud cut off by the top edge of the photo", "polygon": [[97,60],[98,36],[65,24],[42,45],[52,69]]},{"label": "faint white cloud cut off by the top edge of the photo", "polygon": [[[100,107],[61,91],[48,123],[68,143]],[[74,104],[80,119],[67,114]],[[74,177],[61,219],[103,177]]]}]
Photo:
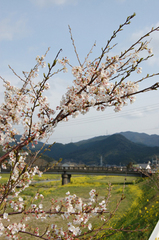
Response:
[{"label": "faint white cloud cut off by the top edge of the photo", "polygon": [[50,5],[76,4],[77,0],[30,0],[38,7],[48,7]]}]

